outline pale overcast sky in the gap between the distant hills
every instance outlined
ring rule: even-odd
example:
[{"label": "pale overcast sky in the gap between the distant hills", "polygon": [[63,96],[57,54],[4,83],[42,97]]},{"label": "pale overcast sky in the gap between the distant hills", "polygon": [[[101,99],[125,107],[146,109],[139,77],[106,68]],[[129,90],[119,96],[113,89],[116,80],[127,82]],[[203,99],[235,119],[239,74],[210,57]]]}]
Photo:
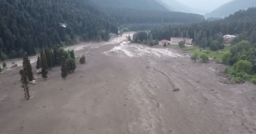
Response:
[{"label": "pale overcast sky in the gap between the distant hills", "polygon": [[186,6],[190,6],[193,8],[205,10],[205,11],[213,11],[219,6],[228,3],[232,0],[176,0],[180,3],[185,4]]}]

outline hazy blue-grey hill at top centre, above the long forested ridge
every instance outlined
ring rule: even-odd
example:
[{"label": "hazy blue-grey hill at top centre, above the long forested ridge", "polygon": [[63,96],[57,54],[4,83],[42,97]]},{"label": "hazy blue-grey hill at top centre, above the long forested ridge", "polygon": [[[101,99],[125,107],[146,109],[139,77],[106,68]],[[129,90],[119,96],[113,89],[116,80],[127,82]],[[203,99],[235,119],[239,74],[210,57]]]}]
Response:
[{"label": "hazy blue-grey hill at top centre, above the long forested ridge", "polygon": [[168,9],[155,0],[91,0],[92,3],[102,7],[154,9],[168,11]]}]

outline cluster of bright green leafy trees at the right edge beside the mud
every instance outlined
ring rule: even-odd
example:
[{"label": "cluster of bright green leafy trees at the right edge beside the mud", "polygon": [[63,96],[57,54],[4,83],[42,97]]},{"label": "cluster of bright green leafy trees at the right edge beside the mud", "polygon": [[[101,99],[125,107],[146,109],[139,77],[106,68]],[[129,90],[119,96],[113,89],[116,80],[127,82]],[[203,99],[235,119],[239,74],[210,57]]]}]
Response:
[{"label": "cluster of bright green leafy trees at the right edge beside the mud", "polygon": [[[237,38],[241,39],[239,36]],[[224,54],[222,62],[232,65],[226,73],[236,81],[245,79],[256,84],[256,43],[241,40],[232,44],[230,51]]]}]

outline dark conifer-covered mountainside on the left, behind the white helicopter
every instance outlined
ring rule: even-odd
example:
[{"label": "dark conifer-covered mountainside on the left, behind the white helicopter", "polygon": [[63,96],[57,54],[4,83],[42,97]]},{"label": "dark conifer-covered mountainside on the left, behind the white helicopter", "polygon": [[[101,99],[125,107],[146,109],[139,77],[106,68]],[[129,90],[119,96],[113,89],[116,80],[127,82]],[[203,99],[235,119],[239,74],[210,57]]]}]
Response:
[{"label": "dark conifer-covered mountainside on the left, behind the white helicopter", "polygon": [[[116,23],[87,0],[0,0],[0,58],[25,51],[71,43],[75,35],[84,40],[108,40],[118,33]],[[66,24],[61,27],[60,23]],[[3,52],[2,52],[3,51]]]}]

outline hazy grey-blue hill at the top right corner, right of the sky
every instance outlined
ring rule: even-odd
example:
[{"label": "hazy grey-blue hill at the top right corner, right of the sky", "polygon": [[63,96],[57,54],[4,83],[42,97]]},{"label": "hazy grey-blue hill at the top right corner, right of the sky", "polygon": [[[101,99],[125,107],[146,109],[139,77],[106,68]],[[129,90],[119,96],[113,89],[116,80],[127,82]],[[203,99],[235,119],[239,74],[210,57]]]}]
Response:
[{"label": "hazy grey-blue hill at the top right corner, right of the sky", "polygon": [[205,14],[205,17],[219,17],[224,18],[230,14],[234,14],[239,10],[247,10],[249,7],[256,6],[256,0],[233,0],[230,1],[214,11]]}]

